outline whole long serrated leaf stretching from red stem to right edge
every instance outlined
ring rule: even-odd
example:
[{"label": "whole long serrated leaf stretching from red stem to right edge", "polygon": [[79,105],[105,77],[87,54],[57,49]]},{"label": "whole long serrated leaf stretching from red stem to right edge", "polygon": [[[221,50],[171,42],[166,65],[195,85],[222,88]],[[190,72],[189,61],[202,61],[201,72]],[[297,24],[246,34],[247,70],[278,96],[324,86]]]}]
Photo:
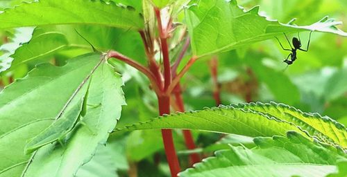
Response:
[{"label": "whole long serrated leaf stretching from red stem to right edge", "polygon": [[117,130],[138,129],[194,129],[253,137],[283,136],[287,131],[294,130],[307,138],[347,148],[347,131],[343,124],[326,116],[303,113],[285,104],[275,103],[219,106],[202,111],[164,115]]}]

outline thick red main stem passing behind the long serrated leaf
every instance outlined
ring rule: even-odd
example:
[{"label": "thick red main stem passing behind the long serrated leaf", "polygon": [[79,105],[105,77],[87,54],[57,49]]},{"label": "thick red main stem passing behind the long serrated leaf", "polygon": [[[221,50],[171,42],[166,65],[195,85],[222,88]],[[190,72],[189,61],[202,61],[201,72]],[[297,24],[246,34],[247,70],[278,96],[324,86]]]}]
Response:
[{"label": "thick red main stem passing behind the long serrated leaf", "polygon": [[[170,97],[167,95],[158,96],[158,105],[160,115],[170,113]],[[177,176],[180,172],[180,164],[176,155],[174,146],[174,139],[172,138],[171,129],[162,129],[162,140],[164,142],[164,149],[167,155],[167,162],[171,171],[171,176]]]}]

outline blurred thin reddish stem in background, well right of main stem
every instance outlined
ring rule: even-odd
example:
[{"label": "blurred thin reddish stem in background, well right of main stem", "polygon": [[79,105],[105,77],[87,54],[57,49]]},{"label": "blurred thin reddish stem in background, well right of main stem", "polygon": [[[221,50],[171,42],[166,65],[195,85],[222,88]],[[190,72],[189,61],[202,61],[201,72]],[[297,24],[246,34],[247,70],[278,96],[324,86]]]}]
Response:
[{"label": "blurred thin reddish stem in background, well right of main stem", "polygon": [[213,57],[210,61],[211,77],[214,84],[213,97],[214,97],[214,100],[216,101],[217,106],[219,106],[219,104],[221,104],[221,92],[220,92],[219,82],[217,79],[217,73],[218,73],[217,67],[218,67],[217,57]]}]

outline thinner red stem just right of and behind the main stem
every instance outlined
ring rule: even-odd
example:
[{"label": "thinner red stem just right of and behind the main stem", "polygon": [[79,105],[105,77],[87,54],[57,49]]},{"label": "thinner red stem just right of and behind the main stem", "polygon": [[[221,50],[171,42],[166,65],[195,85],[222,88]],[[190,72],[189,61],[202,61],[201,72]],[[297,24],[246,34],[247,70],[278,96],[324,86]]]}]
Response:
[{"label": "thinner red stem just right of and behind the main stem", "polygon": [[[177,109],[176,111],[184,112],[185,106],[183,103],[182,98],[182,91],[180,88],[180,83],[177,84],[176,88],[174,89],[174,95],[176,100]],[[183,130],[183,136],[185,137],[185,145],[187,149],[195,149],[195,143],[193,140],[192,132],[190,130]],[[191,153],[190,155],[190,165],[194,165],[196,162],[200,162],[200,156],[198,153]]]}]

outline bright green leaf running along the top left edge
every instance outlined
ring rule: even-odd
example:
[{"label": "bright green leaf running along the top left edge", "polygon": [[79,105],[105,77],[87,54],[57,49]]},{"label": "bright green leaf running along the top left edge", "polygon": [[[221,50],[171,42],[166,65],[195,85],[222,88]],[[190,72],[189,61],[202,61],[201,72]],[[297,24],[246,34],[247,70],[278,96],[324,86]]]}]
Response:
[{"label": "bright green leaf running along the top left edge", "polygon": [[22,3],[0,14],[0,28],[44,26],[57,24],[94,24],[117,28],[143,28],[138,12],[100,0],[54,1]]}]

